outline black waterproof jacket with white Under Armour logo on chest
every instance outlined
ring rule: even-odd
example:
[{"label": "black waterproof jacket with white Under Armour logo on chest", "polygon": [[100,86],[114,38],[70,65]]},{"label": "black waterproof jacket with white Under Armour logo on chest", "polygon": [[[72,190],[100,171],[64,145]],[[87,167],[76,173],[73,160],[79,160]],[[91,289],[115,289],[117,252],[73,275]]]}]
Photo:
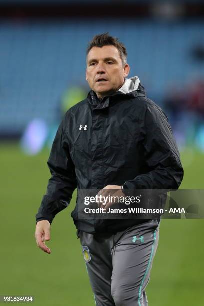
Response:
[{"label": "black waterproof jacket with white Under Armour logo on chest", "polygon": [[[36,220],[47,219],[66,208],[75,188],[102,189],[122,185],[135,189],[177,189],[183,178],[179,152],[166,115],[137,90],[117,91],[98,101],[87,98],[65,114],[56,133],[48,166],[51,178]],[[78,219],[76,227],[94,233],[117,232],[138,220]],[[140,220],[141,221],[141,220]]]}]

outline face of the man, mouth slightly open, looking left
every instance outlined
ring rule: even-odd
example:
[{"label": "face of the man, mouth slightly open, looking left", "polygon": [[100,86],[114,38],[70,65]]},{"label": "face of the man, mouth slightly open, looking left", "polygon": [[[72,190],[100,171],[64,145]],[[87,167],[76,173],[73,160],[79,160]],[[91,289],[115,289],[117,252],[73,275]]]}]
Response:
[{"label": "face of the man, mouth slightly open, looking left", "polygon": [[118,49],[113,45],[93,47],[87,55],[86,80],[98,97],[116,92],[129,74],[129,65],[123,66]]}]

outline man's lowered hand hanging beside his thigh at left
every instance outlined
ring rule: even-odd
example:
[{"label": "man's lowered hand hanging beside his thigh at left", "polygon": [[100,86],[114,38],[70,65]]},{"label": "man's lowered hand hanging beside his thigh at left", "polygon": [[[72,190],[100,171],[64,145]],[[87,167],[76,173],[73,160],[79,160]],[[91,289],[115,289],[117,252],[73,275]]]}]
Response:
[{"label": "man's lowered hand hanging beside his thigh at left", "polygon": [[45,244],[45,241],[50,240],[50,223],[47,220],[37,222],[35,230],[35,239],[37,246],[41,248],[45,253],[51,254],[50,248]]}]

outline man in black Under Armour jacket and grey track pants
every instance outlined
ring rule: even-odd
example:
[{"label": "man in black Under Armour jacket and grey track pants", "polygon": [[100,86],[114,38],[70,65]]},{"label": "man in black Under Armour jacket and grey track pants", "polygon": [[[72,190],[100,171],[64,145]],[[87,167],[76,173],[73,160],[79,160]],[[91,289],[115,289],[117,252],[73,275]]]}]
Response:
[{"label": "man in black Under Armour jacket and grey track pants", "polygon": [[[182,181],[168,120],[146,98],[139,78],[127,78],[126,58],[125,46],[108,33],[96,35],[88,46],[91,91],[59,126],[48,160],[52,177],[36,215],[37,245],[47,253],[50,224],[76,187],[103,195],[115,189],[114,195],[122,197],[131,189],[177,189]],[[71,215],[96,305],[146,305],[159,219],[80,219],[78,205],[77,199]]]}]

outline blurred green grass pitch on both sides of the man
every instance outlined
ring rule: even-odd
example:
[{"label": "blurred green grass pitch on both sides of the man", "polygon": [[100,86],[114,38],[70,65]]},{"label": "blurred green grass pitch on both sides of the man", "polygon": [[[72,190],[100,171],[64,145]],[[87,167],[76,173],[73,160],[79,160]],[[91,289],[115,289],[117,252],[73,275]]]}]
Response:
[{"label": "blurred green grass pitch on both sides of the man", "polygon": [[[35,244],[34,215],[46,191],[48,151],[25,156],[1,145],[0,295],[33,295],[34,305],[94,305],[70,206],[52,224],[51,255]],[[204,188],[204,155],[182,154],[182,188]],[[147,288],[150,306],[203,305],[204,220],[165,220]],[[22,304],[22,303],[20,303]],[[105,306],[105,305],[104,305]]]}]

